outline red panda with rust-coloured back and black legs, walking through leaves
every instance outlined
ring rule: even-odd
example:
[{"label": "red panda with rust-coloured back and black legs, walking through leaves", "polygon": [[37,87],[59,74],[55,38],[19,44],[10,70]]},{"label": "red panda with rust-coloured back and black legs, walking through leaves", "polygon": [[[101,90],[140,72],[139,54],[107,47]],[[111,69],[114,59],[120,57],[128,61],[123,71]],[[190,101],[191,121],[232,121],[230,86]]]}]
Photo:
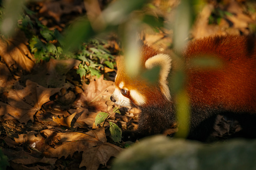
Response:
[{"label": "red panda with rust-coloured back and black legs, walking through leaves", "polygon": [[[188,138],[205,141],[212,133],[217,115],[237,120],[243,137],[256,137],[256,41],[247,36],[214,36],[191,41],[182,53],[185,61],[185,90],[190,102]],[[141,110],[136,134],[163,133],[176,122],[175,99],[168,87],[174,74],[172,56],[143,45],[141,72],[159,65],[158,82],[149,83],[141,74],[127,75],[124,60],[117,64],[115,91],[111,100]],[[211,56],[222,67],[203,69],[191,60]],[[238,135],[239,136],[239,135]]]}]

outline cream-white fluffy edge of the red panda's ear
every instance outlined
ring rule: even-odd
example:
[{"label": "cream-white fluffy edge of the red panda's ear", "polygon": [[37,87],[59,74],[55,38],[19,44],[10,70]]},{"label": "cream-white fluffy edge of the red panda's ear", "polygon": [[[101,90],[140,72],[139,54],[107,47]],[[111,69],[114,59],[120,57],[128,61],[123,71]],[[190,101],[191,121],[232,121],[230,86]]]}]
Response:
[{"label": "cream-white fluffy edge of the red panda's ear", "polygon": [[168,88],[168,81],[167,76],[169,74],[170,68],[171,68],[171,62],[172,59],[167,54],[157,54],[145,62],[146,69],[151,69],[154,66],[160,66],[160,75],[159,75],[159,83],[160,83],[160,89],[164,96],[170,100],[170,91]]}]

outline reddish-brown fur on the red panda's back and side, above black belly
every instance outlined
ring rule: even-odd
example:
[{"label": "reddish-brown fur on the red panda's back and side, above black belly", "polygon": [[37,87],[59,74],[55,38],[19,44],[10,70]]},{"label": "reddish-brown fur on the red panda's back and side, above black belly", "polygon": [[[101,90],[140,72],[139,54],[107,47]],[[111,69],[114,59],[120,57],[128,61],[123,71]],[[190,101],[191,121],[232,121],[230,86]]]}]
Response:
[{"label": "reddish-brown fur on the red panda's back and side, above black belly", "polygon": [[[249,37],[228,36],[191,42],[187,62],[210,55],[221,59],[220,69],[189,68],[188,93],[197,106],[256,113],[256,49]],[[250,49],[250,50],[249,50]]]}]

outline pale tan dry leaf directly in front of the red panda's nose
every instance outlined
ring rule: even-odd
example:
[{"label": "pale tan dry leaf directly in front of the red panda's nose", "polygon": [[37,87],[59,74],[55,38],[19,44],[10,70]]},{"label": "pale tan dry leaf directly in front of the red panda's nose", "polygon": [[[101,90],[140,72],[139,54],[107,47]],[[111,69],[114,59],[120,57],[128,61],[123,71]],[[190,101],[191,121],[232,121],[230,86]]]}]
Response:
[{"label": "pale tan dry leaf directly in front of the red panda's nose", "polygon": [[99,79],[90,82],[89,85],[83,85],[83,93],[77,99],[77,102],[82,102],[96,111],[108,111],[107,101],[110,101],[110,96],[115,90],[113,81],[104,80],[102,75]]}]

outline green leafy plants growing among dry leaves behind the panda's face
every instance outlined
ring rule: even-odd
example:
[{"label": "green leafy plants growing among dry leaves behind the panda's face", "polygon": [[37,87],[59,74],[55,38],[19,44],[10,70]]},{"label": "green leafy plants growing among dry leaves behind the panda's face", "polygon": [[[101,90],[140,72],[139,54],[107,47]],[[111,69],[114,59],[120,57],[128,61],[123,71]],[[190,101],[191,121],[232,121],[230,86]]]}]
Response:
[{"label": "green leafy plants growing among dry leaves behind the panda's face", "polygon": [[20,17],[19,27],[29,38],[30,50],[37,62],[49,61],[50,58],[81,60],[77,69],[80,77],[88,74],[100,77],[104,67],[114,68],[114,56],[104,47],[107,42],[99,39],[82,40],[77,44],[77,52],[68,51],[70,47],[65,45],[64,37],[58,30],[50,30],[42,25],[29,9],[25,8],[25,12]]}]

